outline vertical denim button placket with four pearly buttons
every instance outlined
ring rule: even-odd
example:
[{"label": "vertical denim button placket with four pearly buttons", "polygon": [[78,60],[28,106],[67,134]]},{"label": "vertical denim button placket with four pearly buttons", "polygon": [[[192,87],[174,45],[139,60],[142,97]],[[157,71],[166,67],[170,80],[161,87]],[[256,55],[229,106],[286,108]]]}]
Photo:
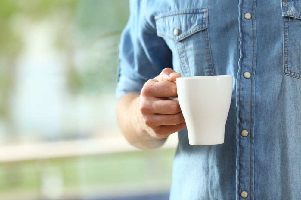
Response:
[{"label": "vertical denim button placket with four pearly buttons", "polygon": [[[253,199],[254,186],[254,72],[256,68],[255,1],[239,4],[240,59],[237,80],[237,199]],[[252,16],[253,15],[253,16]]]}]

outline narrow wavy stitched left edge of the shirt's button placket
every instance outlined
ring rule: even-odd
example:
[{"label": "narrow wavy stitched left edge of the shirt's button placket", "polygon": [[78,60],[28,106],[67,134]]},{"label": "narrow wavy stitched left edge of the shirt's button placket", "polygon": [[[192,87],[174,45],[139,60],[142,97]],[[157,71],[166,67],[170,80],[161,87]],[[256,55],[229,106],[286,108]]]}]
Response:
[{"label": "narrow wavy stitched left edge of the shirt's button placket", "polygon": [[[243,28],[242,28],[242,5],[243,5],[243,0],[241,0],[241,4],[240,4],[240,30],[241,30],[241,60],[240,60],[240,76],[239,76],[239,93],[238,93],[238,103],[239,103],[239,124],[238,124],[238,128],[239,128],[239,132],[240,132],[240,80],[241,80],[241,72],[242,72],[242,63],[243,63],[243,44],[244,44],[244,37],[243,37]],[[239,140],[239,157],[238,157],[238,198],[240,200],[240,135],[238,136],[238,140]]]}]

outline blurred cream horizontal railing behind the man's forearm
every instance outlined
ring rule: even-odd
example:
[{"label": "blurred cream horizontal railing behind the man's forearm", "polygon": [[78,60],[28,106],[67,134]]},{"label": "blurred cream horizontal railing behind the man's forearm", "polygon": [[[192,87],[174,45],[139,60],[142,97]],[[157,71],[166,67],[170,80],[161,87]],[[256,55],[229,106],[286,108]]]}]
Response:
[{"label": "blurred cream horizontal railing behind the man's forearm", "polygon": [[[175,149],[177,144],[177,134],[172,134],[161,149]],[[130,145],[123,136],[59,142],[25,143],[0,146],[0,163],[114,154],[132,151],[141,150]]]}]

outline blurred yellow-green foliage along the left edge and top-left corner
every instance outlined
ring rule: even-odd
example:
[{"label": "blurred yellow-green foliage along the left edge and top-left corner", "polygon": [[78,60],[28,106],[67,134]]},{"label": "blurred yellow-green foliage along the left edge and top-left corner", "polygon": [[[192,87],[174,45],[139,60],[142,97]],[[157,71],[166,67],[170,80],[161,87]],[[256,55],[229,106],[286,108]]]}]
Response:
[{"label": "blurred yellow-green foliage along the left edge and top-left corner", "polygon": [[39,21],[62,9],[74,12],[77,4],[78,0],[0,1],[0,117],[9,121],[10,94],[14,86],[16,60],[23,50],[20,37],[22,29],[13,26],[14,17],[26,16],[30,20]]}]

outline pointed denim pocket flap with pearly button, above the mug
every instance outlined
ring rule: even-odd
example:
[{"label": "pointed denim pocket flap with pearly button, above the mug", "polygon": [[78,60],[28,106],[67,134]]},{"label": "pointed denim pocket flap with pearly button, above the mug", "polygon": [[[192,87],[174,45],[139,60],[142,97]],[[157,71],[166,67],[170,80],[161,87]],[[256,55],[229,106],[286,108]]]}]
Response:
[{"label": "pointed denim pocket flap with pearly button, above the mug", "polygon": [[207,9],[178,10],[155,16],[157,35],[180,41],[207,28]]}]

